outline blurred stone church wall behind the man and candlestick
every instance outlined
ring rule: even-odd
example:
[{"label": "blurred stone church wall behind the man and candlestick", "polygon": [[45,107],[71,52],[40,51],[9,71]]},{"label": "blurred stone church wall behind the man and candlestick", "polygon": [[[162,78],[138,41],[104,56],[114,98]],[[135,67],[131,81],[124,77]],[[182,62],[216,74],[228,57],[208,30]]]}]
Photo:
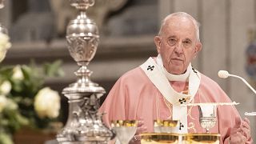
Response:
[{"label": "blurred stone church wall behind the man and candlestick", "polygon": [[[193,66],[212,78],[225,90],[242,117],[256,111],[254,94],[239,79],[218,78],[218,70],[228,70],[246,78],[256,87],[256,0],[96,0],[88,15],[98,24],[100,44],[89,65],[92,80],[108,93],[127,70],[156,56],[154,35],[167,14],[184,11],[200,22],[202,52]],[[9,30],[12,47],[2,66],[62,60],[64,77],[47,78],[60,94],[75,81],[77,64],[66,48],[66,25],[77,11],[68,0],[6,0],[0,10],[0,22]],[[102,101],[105,96],[102,97]],[[65,123],[67,99],[61,94]],[[249,117],[254,141],[256,117]]]}]

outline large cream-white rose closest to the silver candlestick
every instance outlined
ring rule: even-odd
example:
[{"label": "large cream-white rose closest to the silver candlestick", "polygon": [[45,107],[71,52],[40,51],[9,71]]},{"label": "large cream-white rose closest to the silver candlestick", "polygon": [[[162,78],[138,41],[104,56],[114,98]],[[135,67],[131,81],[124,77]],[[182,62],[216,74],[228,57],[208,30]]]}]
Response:
[{"label": "large cream-white rose closest to the silver candlestick", "polygon": [[56,118],[60,109],[60,96],[57,91],[45,87],[35,96],[34,109],[40,118]]}]

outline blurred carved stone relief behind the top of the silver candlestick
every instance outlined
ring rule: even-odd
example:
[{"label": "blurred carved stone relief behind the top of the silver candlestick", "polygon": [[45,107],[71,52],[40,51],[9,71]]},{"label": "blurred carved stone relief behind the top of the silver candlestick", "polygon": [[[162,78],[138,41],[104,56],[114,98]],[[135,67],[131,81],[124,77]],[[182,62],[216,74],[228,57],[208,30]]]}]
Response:
[{"label": "blurred carved stone relief behind the top of the silver candlestick", "polygon": [[[50,42],[64,38],[68,22],[78,13],[68,0],[12,2],[27,7],[26,13],[18,14],[11,26],[13,42]],[[97,23],[101,35],[156,34],[158,30],[158,2],[154,0],[95,0],[87,14]]]}]

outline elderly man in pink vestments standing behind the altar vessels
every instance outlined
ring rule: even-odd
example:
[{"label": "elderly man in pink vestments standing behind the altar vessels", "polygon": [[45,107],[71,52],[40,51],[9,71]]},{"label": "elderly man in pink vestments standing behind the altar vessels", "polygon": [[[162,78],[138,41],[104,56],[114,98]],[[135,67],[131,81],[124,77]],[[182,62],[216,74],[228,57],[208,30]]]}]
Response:
[{"label": "elderly man in pink vestments standing behind the altar vessels", "polygon": [[[140,120],[131,142],[140,133],[153,132],[155,119],[178,119],[176,133],[205,133],[198,108],[181,104],[231,101],[216,82],[191,66],[202,49],[198,22],[183,12],[170,14],[154,43],[158,57],[124,74],[110,90],[100,108],[106,113],[103,121],[110,126],[111,120]],[[249,125],[234,106],[218,106],[218,122],[210,132],[221,134],[221,143],[251,143]]]}]

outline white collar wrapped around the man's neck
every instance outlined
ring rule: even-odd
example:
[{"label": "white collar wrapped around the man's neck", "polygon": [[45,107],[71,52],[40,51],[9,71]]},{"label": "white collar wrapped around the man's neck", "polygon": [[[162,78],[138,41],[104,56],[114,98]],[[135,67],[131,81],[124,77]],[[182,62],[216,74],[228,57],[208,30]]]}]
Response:
[{"label": "white collar wrapped around the man's neck", "polygon": [[182,81],[182,82],[187,82],[189,80],[189,76],[190,76],[190,71],[192,70],[192,66],[191,63],[189,64],[189,66],[186,69],[186,72],[184,74],[170,74],[166,68],[163,66],[162,64],[162,57],[160,54],[158,54],[157,57],[157,63],[158,66],[161,67],[162,72],[166,75],[166,78],[169,81]]}]

